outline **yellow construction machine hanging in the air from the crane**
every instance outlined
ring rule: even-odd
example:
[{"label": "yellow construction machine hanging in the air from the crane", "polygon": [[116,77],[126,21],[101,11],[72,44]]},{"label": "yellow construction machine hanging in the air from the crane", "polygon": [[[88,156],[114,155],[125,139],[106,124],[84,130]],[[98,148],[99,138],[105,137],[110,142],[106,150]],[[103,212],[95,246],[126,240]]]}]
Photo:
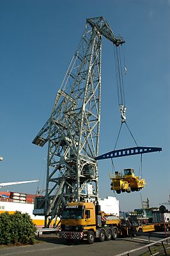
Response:
[{"label": "yellow construction machine hanging in the air from the crane", "polygon": [[135,176],[134,169],[124,169],[124,174],[121,172],[115,172],[111,177],[111,190],[115,190],[116,193],[121,192],[130,193],[131,191],[139,191],[144,188],[146,182],[144,179]]}]

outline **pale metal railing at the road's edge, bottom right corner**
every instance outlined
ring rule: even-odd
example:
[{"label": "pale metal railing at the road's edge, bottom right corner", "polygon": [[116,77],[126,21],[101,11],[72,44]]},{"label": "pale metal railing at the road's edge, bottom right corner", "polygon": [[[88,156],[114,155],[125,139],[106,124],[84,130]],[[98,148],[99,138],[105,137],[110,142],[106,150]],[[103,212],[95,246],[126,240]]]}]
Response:
[{"label": "pale metal railing at the road's edge, bottom right corner", "polygon": [[[164,239],[161,239],[159,241],[156,241],[154,243],[151,243],[151,244],[146,244],[144,246],[141,246],[137,249],[134,249],[134,250],[130,250],[128,252],[123,252],[123,253],[120,253],[120,254],[116,254],[114,256],[123,256],[123,255],[127,255],[127,256],[130,256],[130,255],[133,255],[133,253],[137,252],[137,251],[140,251],[140,250],[144,250],[146,248],[148,248],[148,251],[150,252],[150,255],[151,256],[154,256],[154,255],[162,255],[162,253],[164,253],[164,255],[167,255],[167,249],[169,249],[170,247],[166,247],[165,246],[165,242],[168,244],[168,240],[170,239],[170,237],[166,237]],[[158,245],[158,243],[161,243],[162,244],[162,250],[160,252],[157,252],[157,253],[152,253],[151,252],[151,246],[154,246],[154,245]]]}]

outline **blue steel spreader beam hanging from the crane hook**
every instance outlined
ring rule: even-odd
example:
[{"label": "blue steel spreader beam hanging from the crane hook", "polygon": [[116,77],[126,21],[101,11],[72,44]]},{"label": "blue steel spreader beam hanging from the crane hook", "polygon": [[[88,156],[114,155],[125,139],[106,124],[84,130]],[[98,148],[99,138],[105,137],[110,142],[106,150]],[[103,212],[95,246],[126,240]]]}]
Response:
[{"label": "blue steel spreader beam hanging from the crane hook", "polygon": [[101,156],[95,157],[95,160],[102,160],[102,159],[122,157],[122,156],[132,156],[132,155],[157,152],[157,151],[159,152],[162,151],[162,148],[155,148],[155,147],[123,148],[123,149],[113,150]]}]

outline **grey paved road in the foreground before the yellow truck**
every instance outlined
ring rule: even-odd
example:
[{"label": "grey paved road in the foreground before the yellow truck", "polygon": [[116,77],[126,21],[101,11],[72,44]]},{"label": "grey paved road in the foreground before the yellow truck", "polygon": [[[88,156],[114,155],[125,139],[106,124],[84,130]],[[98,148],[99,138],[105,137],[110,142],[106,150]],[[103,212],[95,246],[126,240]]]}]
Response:
[{"label": "grey paved road in the foreground before the yellow truck", "polygon": [[[143,240],[142,240],[143,239]],[[0,248],[1,256],[114,256],[118,253],[126,252],[148,244],[147,237],[119,238],[116,241],[96,242],[94,244],[66,244],[62,239],[54,235],[43,235],[39,237],[41,243],[27,246],[7,246]],[[151,237],[153,241],[153,237]],[[42,243],[43,241],[43,243]],[[139,252],[133,254],[139,256]]]}]

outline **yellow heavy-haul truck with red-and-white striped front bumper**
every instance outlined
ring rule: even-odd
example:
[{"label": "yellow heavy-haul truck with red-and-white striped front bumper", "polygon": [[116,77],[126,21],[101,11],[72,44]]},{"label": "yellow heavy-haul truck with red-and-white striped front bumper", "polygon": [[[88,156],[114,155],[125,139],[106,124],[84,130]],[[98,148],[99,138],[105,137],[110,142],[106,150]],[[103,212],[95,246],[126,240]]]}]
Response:
[{"label": "yellow heavy-haul truck with red-and-white striped front bumper", "polygon": [[95,239],[100,242],[116,240],[120,226],[118,216],[100,211],[100,205],[72,202],[63,209],[60,237],[68,243],[72,240],[85,240],[88,244],[93,244]]}]

